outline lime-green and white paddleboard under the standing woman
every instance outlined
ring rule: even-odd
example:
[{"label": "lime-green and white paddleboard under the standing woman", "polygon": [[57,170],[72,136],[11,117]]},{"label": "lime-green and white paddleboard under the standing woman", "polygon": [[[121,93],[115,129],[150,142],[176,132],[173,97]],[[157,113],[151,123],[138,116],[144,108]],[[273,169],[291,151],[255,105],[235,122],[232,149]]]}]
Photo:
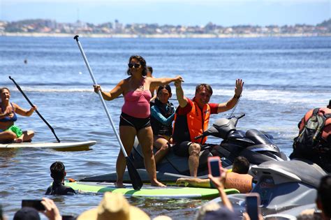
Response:
[{"label": "lime-green and white paddleboard under the standing woman", "polygon": [[[124,184],[125,188],[116,188],[110,182],[65,182],[78,193],[122,193],[124,196],[148,197],[148,198],[205,198],[219,197],[217,189],[192,188],[182,186],[157,187],[144,184],[142,189],[134,190],[131,184]],[[227,194],[240,193],[237,189],[225,189]]]}]

